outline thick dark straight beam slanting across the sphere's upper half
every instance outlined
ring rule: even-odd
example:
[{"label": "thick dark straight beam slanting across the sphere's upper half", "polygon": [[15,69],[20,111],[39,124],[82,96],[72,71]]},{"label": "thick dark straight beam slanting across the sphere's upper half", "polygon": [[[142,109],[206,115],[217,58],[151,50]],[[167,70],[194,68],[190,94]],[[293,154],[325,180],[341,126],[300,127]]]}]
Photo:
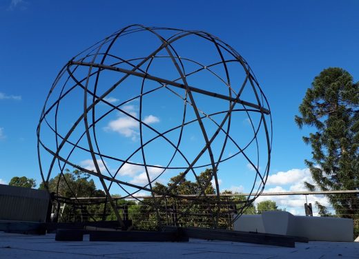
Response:
[{"label": "thick dark straight beam slanting across the sphere's upper half", "polygon": [[266,108],[264,108],[264,107],[262,107],[260,105],[256,105],[254,103],[249,103],[249,102],[246,102],[246,101],[242,101],[240,99],[235,99],[235,98],[233,98],[231,96],[226,96],[226,95],[223,95],[223,94],[217,94],[215,92],[209,92],[209,91],[202,90],[200,88],[193,87],[193,86],[190,86],[190,85],[188,85],[188,88],[187,88],[186,85],[184,85],[182,83],[176,83],[176,82],[171,81],[171,80],[162,79],[162,78],[159,78],[157,76],[151,76],[150,74],[144,74],[142,72],[137,72],[137,71],[134,71],[134,70],[126,70],[124,68],[117,68],[117,67],[113,67],[113,66],[110,66],[110,65],[103,65],[103,64],[98,64],[98,63],[80,62],[80,61],[70,61],[69,64],[70,65],[84,65],[84,66],[93,67],[93,68],[101,68],[101,69],[104,69],[104,70],[113,70],[113,71],[117,71],[117,72],[122,72],[124,74],[131,74],[133,76],[139,76],[139,77],[142,77],[144,79],[150,79],[150,80],[153,80],[153,81],[156,81],[156,82],[159,82],[159,83],[163,83],[165,85],[172,85],[174,87],[179,87],[179,88],[182,88],[184,90],[188,89],[191,92],[197,92],[199,94],[213,96],[215,98],[223,99],[223,100],[226,100],[226,101],[232,101],[234,103],[240,103],[240,104],[242,104],[244,106],[248,106],[248,107],[258,109],[261,112],[263,112],[264,114],[270,114],[271,113],[268,109],[266,109]]}]

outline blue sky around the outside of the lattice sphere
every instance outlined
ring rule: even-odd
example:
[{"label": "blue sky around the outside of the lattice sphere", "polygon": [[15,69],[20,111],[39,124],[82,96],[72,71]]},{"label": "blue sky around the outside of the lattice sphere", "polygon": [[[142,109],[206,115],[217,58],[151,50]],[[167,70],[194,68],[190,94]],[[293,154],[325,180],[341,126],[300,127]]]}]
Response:
[{"label": "blue sky around the outside of the lattice sphere", "polygon": [[[309,129],[299,130],[293,117],[324,68],[344,68],[359,80],[358,11],[358,1],[1,0],[1,182],[28,176],[40,183],[36,127],[57,73],[88,46],[139,23],[210,32],[246,59],[273,116],[273,177],[266,189],[293,190],[309,177],[303,161],[311,157],[302,143]],[[246,181],[227,174],[223,188],[249,191]]]}]

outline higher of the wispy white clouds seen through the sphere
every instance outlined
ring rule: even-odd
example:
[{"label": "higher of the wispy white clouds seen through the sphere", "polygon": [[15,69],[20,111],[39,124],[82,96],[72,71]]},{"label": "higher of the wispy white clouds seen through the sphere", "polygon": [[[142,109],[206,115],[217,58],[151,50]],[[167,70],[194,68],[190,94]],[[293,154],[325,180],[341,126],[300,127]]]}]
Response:
[{"label": "higher of the wispy white clouds seen through the sphere", "polygon": [[[133,105],[126,105],[122,107],[122,110],[125,110],[128,114],[137,118],[137,112],[135,112]],[[145,116],[142,121],[149,125],[159,123],[159,118],[150,114]],[[108,125],[104,127],[104,130],[117,132],[126,138],[131,138],[133,141],[136,141],[139,136],[139,122],[130,116],[121,114],[117,119],[110,121]]]}]

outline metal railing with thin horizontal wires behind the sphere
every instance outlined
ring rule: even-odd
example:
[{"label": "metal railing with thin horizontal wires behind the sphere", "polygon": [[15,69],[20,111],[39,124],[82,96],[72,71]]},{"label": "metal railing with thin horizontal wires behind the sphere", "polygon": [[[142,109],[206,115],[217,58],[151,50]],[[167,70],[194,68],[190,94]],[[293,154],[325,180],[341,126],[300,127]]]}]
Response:
[{"label": "metal railing with thin horizontal wires behind the sphere", "polygon": [[[255,201],[254,205],[247,207],[243,214],[257,214],[258,203],[264,200],[272,200],[277,207],[261,207],[260,211],[281,209],[289,211],[295,215],[314,215],[314,216],[339,216],[355,219],[355,224],[359,226],[359,207],[350,210],[340,211],[334,209],[326,196],[336,196],[342,199],[343,203],[353,195],[359,197],[359,190],[347,191],[291,191],[291,192],[267,192]],[[215,195],[207,195],[209,198]],[[139,229],[151,229],[157,226],[158,217],[162,225],[175,225],[183,227],[211,227],[217,217],[217,227],[231,229],[233,224],[233,214],[240,213],[241,208],[246,203],[246,196],[250,194],[221,194],[221,203],[217,204],[213,198],[213,203],[208,200],[202,203],[199,200],[175,200],[166,197],[159,206],[159,214],[151,211],[152,196],[138,196],[141,203],[133,199],[114,198],[117,208],[122,213],[124,220],[136,222]],[[59,221],[101,221],[116,220],[113,209],[106,197],[82,197],[82,198],[58,198],[55,207],[59,213]],[[311,209],[309,209],[311,204]],[[307,205],[307,207],[305,206]],[[320,207],[322,206],[322,207]],[[323,208],[327,215],[323,215]],[[349,213],[350,212],[350,213]]]}]

